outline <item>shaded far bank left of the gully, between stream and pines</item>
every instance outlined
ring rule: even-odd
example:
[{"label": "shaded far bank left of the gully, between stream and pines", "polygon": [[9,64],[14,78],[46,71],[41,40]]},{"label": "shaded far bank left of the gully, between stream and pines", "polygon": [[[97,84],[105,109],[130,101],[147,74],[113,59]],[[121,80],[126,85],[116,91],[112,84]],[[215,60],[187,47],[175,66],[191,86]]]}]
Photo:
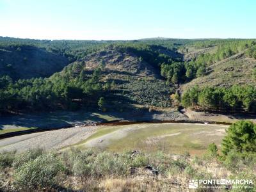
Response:
[{"label": "shaded far bank left of the gully, between stream and pines", "polygon": [[[179,111],[148,111],[148,109],[132,109],[124,112],[101,111],[55,111],[50,113],[27,113],[12,116],[0,116],[1,134],[12,136],[10,132],[19,134],[44,130],[72,127],[77,124],[102,124],[106,122],[152,122],[188,120],[188,117]],[[24,131],[26,129],[26,131]]]}]

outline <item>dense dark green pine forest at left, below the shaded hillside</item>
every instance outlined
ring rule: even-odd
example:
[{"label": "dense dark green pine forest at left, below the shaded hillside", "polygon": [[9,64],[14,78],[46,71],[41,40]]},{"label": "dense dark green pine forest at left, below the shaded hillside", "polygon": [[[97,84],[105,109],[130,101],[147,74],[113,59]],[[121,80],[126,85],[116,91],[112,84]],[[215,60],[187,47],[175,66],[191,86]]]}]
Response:
[{"label": "dense dark green pine forest at left, below the shaded hillside", "polygon": [[82,72],[74,79],[58,76],[51,79],[19,79],[13,82],[8,76],[1,77],[0,110],[74,110],[81,104],[97,104],[100,95],[111,89],[111,83],[99,82],[100,71],[98,68],[91,76],[86,76]]}]

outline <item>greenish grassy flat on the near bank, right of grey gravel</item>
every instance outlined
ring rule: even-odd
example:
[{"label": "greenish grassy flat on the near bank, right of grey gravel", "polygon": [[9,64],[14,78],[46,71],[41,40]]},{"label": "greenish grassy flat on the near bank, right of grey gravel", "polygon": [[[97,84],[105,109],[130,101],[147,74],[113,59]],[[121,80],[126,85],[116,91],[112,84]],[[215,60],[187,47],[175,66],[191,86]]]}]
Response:
[{"label": "greenish grassy flat on the near bank, right of grey gravel", "polygon": [[[162,150],[167,153],[202,154],[209,143],[214,142],[220,145],[224,135],[224,132],[216,134],[220,129],[225,127],[200,124],[123,125],[99,129],[95,134],[77,144],[79,147],[97,145],[94,147],[112,152],[138,149],[148,152]],[[108,134],[107,137],[106,134]],[[99,140],[102,138],[102,143],[92,141],[95,138]],[[95,144],[87,143],[91,141]]]}]

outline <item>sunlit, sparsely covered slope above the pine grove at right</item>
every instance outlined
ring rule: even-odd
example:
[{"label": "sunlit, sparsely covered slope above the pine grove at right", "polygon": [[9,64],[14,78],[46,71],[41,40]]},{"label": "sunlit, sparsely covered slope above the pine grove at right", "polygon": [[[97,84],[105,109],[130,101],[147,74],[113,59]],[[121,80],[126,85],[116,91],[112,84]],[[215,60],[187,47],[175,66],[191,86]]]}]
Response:
[{"label": "sunlit, sparsely covered slope above the pine grove at right", "polygon": [[192,86],[232,86],[255,85],[256,80],[252,77],[253,68],[256,67],[256,60],[248,58],[244,52],[230,56],[227,59],[213,63],[207,67],[207,74],[197,77],[192,81],[182,84],[182,90],[187,90]]}]

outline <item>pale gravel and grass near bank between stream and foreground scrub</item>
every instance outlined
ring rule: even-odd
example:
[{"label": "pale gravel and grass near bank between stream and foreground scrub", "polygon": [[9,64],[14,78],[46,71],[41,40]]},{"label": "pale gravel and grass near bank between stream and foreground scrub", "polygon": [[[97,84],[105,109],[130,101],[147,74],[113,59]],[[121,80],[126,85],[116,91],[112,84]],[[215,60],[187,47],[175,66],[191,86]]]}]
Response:
[{"label": "pale gravel and grass near bank between stream and foreground scrub", "polygon": [[[201,154],[209,143],[220,145],[228,125],[189,123],[141,123],[126,125],[77,126],[54,131],[35,132],[0,140],[0,152],[29,148],[100,148],[123,150],[163,150],[177,154],[185,151]],[[159,140],[161,138],[161,140]]]}]

